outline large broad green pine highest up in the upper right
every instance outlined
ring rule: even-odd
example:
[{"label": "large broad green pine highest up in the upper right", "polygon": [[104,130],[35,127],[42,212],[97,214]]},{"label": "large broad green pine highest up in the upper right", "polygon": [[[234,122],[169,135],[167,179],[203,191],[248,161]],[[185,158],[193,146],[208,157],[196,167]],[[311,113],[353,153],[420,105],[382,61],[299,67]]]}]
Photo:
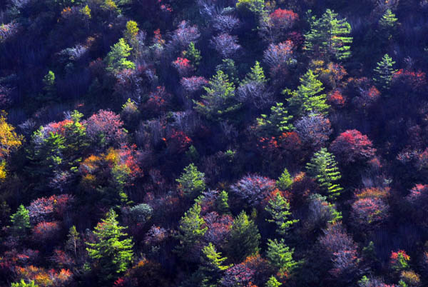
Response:
[{"label": "large broad green pine highest up in the upper right", "polygon": [[305,35],[305,50],[322,58],[338,61],[351,56],[351,26],[346,19],[337,19],[334,11],[327,9],[320,19],[310,18],[310,31]]}]

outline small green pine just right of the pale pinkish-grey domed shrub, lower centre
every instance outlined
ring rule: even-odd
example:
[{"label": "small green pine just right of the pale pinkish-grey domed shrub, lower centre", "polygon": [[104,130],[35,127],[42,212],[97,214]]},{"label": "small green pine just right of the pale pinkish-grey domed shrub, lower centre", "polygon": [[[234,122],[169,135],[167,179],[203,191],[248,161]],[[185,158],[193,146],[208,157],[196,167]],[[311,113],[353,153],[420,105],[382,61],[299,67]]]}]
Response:
[{"label": "small green pine just right of the pale pinkish-grey domed shrub, lower centre", "polygon": [[297,219],[290,220],[290,203],[281,196],[278,192],[275,198],[270,199],[265,208],[272,219],[267,219],[267,222],[273,222],[277,225],[277,233],[282,236],[287,234],[287,231],[290,230],[292,224],[297,223]]}]

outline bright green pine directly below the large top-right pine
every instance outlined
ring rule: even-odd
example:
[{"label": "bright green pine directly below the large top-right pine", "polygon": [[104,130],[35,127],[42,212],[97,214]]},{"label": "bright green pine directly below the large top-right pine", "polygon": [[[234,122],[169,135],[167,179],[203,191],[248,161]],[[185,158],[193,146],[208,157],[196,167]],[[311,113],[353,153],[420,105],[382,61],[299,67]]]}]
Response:
[{"label": "bright green pine directly below the large top-right pine", "polygon": [[325,94],[320,94],[324,90],[322,83],[317,79],[317,75],[312,70],[308,70],[302,78],[300,78],[300,86],[296,91],[285,89],[284,94],[291,96],[287,101],[290,107],[295,110],[298,116],[305,116],[307,114],[319,113],[327,114],[330,108],[325,103]]}]

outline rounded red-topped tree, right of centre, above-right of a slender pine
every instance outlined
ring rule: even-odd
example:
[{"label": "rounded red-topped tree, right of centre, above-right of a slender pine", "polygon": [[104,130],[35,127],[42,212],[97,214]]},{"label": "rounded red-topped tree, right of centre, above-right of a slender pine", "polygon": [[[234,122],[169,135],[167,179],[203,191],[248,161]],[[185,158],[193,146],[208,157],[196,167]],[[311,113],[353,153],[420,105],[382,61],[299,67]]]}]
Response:
[{"label": "rounded red-topped tree, right of centre, above-right of a slender pine", "polygon": [[337,136],[330,149],[343,165],[365,163],[373,158],[376,152],[372,141],[355,129],[347,130]]}]

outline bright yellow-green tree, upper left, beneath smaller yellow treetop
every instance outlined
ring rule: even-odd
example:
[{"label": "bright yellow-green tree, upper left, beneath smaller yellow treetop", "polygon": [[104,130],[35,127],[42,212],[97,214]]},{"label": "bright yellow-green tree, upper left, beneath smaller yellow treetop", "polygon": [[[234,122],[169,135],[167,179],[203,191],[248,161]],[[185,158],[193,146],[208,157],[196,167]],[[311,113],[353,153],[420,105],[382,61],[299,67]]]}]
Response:
[{"label": "bright yellow-green tree, upper left, beneath smaller yellow treetop", "polygon": [[128,60],[131,55],[132,48],[126,44],[125,39],[119,39],[118,43],[111,47],[111,51],[106,56],[106,70],[117,74],[122,69],[135,69],[136,65]]}]

